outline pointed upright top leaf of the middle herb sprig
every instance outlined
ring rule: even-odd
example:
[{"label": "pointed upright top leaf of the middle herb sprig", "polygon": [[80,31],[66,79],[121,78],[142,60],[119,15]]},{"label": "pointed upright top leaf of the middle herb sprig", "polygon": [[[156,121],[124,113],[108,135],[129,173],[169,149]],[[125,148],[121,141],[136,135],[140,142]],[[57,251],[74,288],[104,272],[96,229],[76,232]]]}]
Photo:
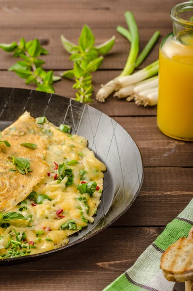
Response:
[{"label": "pointed upright top leaf of the middle herb sprig", "polygon": [[84,25],[78,42],[84,51],[94,45],[95,38],[88,25]]}]

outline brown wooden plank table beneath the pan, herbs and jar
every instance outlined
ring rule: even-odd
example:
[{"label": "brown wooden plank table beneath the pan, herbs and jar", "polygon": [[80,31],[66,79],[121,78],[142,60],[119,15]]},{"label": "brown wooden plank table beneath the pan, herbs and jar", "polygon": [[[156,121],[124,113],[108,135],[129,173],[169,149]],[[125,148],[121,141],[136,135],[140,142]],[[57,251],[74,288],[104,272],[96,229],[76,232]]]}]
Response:
[{"label": "brown wooden plank table beneath the pan, herbs and jar", "polygon": [[[94,95],[101,83],[119,75],[129,44],[116,32],[126,26],[124,12],[134,13],[140,30],[140,49],[153,32],[161,39],[172,31],[169,11],[178,0],[0,0],[0,42],[40,39],[50,55],[45,68],[54,74],[70,69],[60,35],[77,42],[81,27],[88,24],[101,43],[116,35],[112,52],[101,69],[93,73]],[[158,59],[159,43],[140,66]],[[0,51],[0,86],[33,88],[7,68],[15,60]],[[55,83],[56,93],[74,97],[72,82]],[[93,97],[94,97],[93,95]],[[1,268],[1,291],[100,291],[133,265],[175,216],[193,198],[193,143],[173,140],[156,125],[156,107],[143,108],[133,102],[110,97],[93,107],[120,123],[135,139],[143,157],[144,182],[136,201],[118,221],[91,239],[50,257]]]}]

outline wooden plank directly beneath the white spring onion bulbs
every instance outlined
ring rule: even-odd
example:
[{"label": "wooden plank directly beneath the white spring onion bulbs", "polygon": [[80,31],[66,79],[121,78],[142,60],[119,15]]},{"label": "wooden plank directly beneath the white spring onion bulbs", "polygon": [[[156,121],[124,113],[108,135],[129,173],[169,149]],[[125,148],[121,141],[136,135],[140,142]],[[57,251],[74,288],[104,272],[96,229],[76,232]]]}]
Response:
[{"label": "wooden plank directly beneath the white spring onion bulbs", "polygon": [[[59,75],[62,71],[55,71],[54,75]],[[95,100],[95,95],[100,85],[119,74],[119,71],[97,71],[93,73],[93,103],[91,106],[110,116],[138,116],[138,115],[156,115],[156,107],[137,106],[134,102],[127,102],[125,99],[109,97],[105,103]],[[72,89],[73,81],[63,79],[54,83],[55,92],[58,95],[66,97],[75,97],[76,90]],[[0,87],[15,87],[25,89],[35,89],[34,84],[26,85],[25,80],[19,78],[14,72],[0,71]]]}]

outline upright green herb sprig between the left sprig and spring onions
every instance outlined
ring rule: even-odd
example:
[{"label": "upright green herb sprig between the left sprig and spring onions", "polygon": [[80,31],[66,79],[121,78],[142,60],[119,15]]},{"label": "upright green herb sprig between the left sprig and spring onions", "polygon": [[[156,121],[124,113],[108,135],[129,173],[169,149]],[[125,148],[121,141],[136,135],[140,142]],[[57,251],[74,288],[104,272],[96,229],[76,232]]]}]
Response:
[{"label": "upright green herb sprig between the left sprig and spring onions", "polygon": [[92,76],[91,72],[98,70],[103,63],[103,56],[114,45],[115,36],[111,37],[105,43],[94,47],[95,37],[87,25],[84,25],[79,37],[78,46],[71,43],[63,35],[61,41],[64,48],[71,54],[70,61],[74,62],[72,70],[63,72],[61,76],[71,79],[75,77],[75,84],[72,88],[77,89],[76,99],[79,102],[92,102]]}]

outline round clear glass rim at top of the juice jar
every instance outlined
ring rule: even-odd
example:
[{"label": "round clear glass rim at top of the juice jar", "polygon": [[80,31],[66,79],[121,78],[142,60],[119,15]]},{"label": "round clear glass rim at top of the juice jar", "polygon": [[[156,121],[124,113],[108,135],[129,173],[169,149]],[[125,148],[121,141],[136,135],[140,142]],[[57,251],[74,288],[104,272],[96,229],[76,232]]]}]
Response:
[{"label": "round clear glass rim at top of the juice jar", "polygon": [[170,17],[178,25],[185,27],[185,28],[192,28],[193,29],[193,22],[192,21],[185,20],[185,19],[180,18],[178,16],[178,14],[180,12],[182,12],[182,9],[185,9],[185,10],[192,9],[193,10],[193,2],[191,2],[191,1],[182,2],[182,3],[175,5],[170,11]]}]

